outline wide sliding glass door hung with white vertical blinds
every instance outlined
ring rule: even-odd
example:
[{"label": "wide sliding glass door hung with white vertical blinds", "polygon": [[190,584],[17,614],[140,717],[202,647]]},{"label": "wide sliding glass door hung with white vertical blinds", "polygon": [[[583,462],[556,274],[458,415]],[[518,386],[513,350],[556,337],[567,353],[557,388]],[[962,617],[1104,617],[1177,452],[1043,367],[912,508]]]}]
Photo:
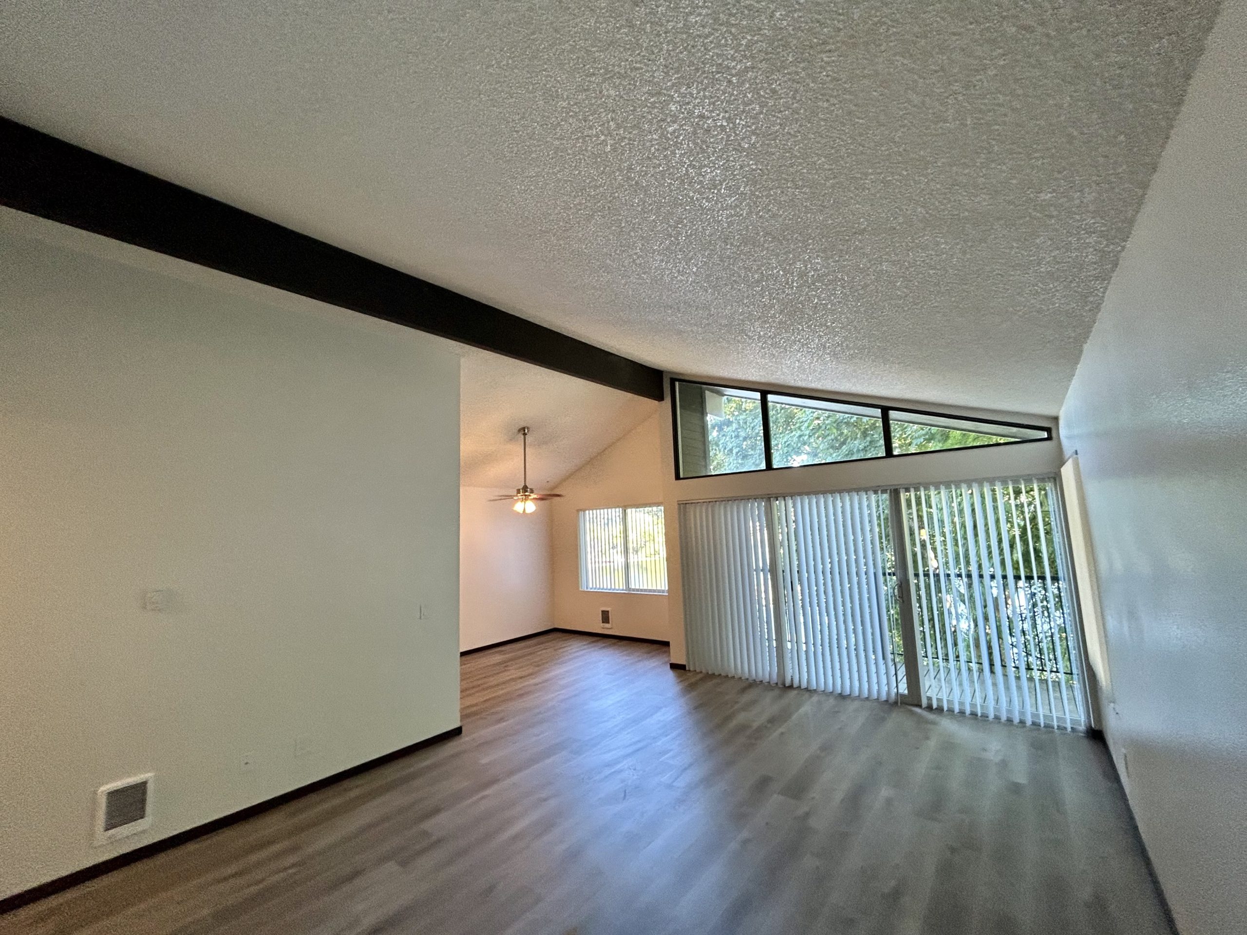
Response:
[{"label": "wide sliding glass door hung with white vertical blinds", "polygon": [[691,669],[1086,724],[1050,480],[681,504],[680,531]]}]

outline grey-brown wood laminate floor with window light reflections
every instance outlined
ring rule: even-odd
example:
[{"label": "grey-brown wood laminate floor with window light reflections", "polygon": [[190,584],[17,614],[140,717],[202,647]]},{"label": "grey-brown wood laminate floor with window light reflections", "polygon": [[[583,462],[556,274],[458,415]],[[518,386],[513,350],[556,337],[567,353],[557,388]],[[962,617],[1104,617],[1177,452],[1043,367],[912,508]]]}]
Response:
[{"label": "grey-brown wood laminate floor with window light reflections", "polygon": [[464,657],[463,723],[0,933],[1170,931],[1082,736],[562,633]]}]

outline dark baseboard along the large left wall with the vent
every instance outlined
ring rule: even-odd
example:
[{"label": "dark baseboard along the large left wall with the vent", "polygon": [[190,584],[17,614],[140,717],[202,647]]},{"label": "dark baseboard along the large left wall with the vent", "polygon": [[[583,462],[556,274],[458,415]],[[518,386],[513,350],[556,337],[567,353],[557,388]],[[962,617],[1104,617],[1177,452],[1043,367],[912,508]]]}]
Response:
[{"label": "dark baseboard along the large left wall with the vent", "polygon": [[416,750],[421,750],[425,747],[431,747],[441,741],[449,741],[451,737],[458,737],[463,732],[463,726],[453,727],[440,734],[434,734],[433,737],[416,741],[407,747],[400,747],[397,750],[383,753],[380,757],[374,757],[373,759],[359,763],[358,765],[348,767],[347,769],[334,773],[333,775],[327,775],[323,779],[317,779],[315,782],[301,785],[297,789],[283,792],[281,795],[274,795],[271,799],[257,802],[254,805],[247,805],[247,808],[231,812],[228,815],[213,818],[211,822],[205,822],[195,828],[187,828],[185,832],[178,832],[177,834],[171,834],[167,838],[153,840],[151,844],[143,844],[141,848],[127,850],[125,854],[117,854],[107,860],[101,860],[99,864],[84,866],[81,870],[65,874],[65,876],[57,876],[55,880],[49,880],[47,883],[41,883],[29,890],[22,890],[21,893],[15,893],[11,896],[5,896],[4,899],[0,899],[0,915],[11,913],[14,909],[30,905],[31,903],[51,896],[52,894],[71,889],[72,886],[77,886],[80,883],[86,883],[87,880],[104,876],[113,870],[120,870],[122,866],[128,866],[130,864],[136,864],[140,860],[155,856],[156,854],[161,854],[166,850],[172,850],[180,844],[186,844],[196,838],[202,838],[207,834],[212,834],[213,832],[219,832],[222,828],[228,828],[232,824],[246,822],[248,818],[254,818],[256,815],[263,814],[264,812],[274,809],[278,805],[284,805],[288,802],[293,802],[294,799],[303,798],[313,792],[319,792],[320,789],[334,785],[335,783],[340,783],[343,779],[349,779],[354,775],[359,775],[360,773],[367,773],[369,769],[375,769],[385,763],[402,759],[403,757],[415,753]]}]

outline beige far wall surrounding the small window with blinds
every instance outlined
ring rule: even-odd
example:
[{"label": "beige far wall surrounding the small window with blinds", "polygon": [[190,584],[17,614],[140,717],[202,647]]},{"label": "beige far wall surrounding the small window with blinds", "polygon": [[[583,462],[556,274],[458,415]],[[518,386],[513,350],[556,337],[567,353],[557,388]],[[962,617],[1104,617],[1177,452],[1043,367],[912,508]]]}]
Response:
[{"label": "beige far wall surrounding the small window with blinds", "polygon": [[[665,409],[665,406],[663,406]],[[569,630],[667,640],[667,596],[580,590],[577,512],[602,506],[662,502],[662,410],[562,484],[551,506],[555,625]],[[614,630],[600,626],[600,610],[611,610]]]}]

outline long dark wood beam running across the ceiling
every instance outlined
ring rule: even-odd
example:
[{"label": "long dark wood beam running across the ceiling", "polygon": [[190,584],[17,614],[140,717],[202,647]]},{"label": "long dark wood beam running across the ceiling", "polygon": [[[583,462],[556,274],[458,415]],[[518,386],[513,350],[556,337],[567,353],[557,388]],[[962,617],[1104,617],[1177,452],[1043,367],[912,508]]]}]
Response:
[{"label": "long dark wood beam running across the ceiling", "polygon": [[648,399],[662,373],[0,117],[0,204]]}]

